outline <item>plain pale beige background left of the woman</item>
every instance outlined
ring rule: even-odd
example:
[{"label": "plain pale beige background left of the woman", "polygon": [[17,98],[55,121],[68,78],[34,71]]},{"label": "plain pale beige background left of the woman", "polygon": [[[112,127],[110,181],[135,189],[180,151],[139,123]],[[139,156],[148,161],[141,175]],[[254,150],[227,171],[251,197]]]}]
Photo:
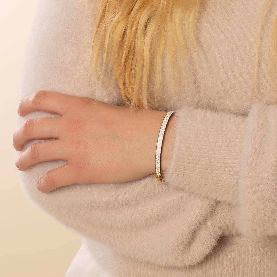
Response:
[{"label": "plain pale beige background left of the woman", "polygon": [[12,135],[18,85],[38,0],[0,5],[0,234],[1,277],[64,277],[81,237],[51,219],[22,194]]}]

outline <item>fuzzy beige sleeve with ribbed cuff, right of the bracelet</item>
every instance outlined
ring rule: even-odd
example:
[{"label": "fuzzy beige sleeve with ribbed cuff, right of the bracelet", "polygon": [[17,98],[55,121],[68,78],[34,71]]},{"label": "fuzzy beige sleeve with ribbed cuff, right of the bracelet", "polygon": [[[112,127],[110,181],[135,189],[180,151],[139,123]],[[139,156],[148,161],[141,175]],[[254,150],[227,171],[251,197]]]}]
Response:
[{"label": "fuzzy beige sleeve with ribbed cuff, right of the bracelet", "polygon": [[245,236],[277,235],[277,106],[255,102],[247,116],[185,106],[175,115],[165,184],[234,204]]}]

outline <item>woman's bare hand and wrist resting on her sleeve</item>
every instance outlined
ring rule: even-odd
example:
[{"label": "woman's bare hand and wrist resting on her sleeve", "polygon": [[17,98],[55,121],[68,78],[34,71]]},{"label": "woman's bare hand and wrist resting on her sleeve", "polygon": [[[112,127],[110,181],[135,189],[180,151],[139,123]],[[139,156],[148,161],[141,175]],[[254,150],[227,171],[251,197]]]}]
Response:
[{"label": "woman's bare hand and wrist resting on her sleeve", "polygon": [[[22,151],[31,140],[56,139],[31,145],[18,157],[16,166],[24,171],[45,161],[63,159],[67,163],[39,180],[40,191],[74,183],[127,182],[155,173],[157,139],[167,112],[131,111],[125,105],[42,90],[23,97],[18,114],[25,116],[38,110],[60,116],[26,120],[14,132],[14,148]],[[172,124],[173,119],[164,134],[162,171],[170,159]]]}]

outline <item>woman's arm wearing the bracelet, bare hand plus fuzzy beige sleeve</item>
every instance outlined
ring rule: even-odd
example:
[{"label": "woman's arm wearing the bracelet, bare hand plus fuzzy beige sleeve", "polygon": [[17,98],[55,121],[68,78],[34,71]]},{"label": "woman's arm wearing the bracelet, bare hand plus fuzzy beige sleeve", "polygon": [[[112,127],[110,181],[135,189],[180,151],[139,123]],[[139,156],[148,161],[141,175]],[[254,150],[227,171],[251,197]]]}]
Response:
[{"label": "woman's arm wearing the bracelet, bare hand plus fuzzy beige sleeve", "polygon": [[[23,150],[20,171],[63,159],[38,189],[74,183],[122,183],[155,173],[155,149],[167,112],[116,106],[91,98],[39,91],[22,98],[21,116],[34,111],[58,118],[27,120],[14,134]],[[248,236],[277,234],[277,108],[255,103],[248,116],[185,106],[168,122],[161,168],[166,184],[239,206],[236,223]],[[27,124],[26,124],[27,123]]]}]

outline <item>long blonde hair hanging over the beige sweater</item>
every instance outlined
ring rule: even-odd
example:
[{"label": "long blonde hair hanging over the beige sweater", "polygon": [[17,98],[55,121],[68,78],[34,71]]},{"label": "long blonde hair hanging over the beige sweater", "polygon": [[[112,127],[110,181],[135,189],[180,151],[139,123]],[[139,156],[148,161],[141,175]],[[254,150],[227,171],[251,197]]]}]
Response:
[{"label": "long blonde hair hanging over the beige sweater", "polygon": [[[258,42],[263,17],[270,1],[265,2],[259,21],[252,92],[259,58]],[[93,69],[97,78],[104,82],[106,70],[111,76],[109,83],[116,79],[124,103],[131,108],[159,108],[157,99],[161,85],[160,66],[163,51],[167,50],[170,54],[170,77],[174,77],[174,91],[177,78],[176,61],[182,63],[187,55],[184,28],[193,46],[199,50],[194,25],[202,2],[203,0],[102,0],[95,12],[96,25],[91,47]],[[277,63],[277,16],[272,29],[272,44]],[[102,72],[99,75],[97,66],[102,50]],[[182,59],[176,59],[178,51],[182,52]],[[181,66],[183,69],[180,72],[184,73],[186,64]],[[148,90],[149,73],[153,70],[154,98]]]}]

